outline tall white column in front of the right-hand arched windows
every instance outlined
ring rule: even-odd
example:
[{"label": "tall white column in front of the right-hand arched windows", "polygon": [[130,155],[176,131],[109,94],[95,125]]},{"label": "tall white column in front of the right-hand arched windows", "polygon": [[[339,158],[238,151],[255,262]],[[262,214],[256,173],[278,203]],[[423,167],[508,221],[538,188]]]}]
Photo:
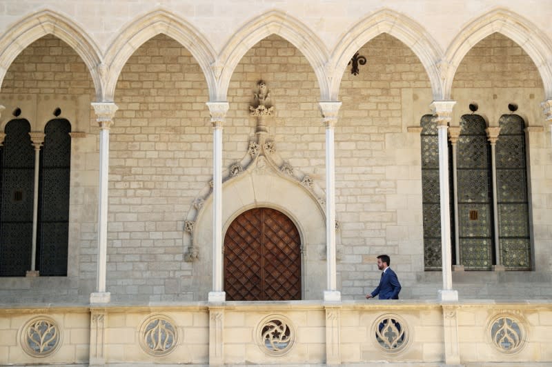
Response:
[{"label": "tall white column in front of the right-hand arched windows", "polygon": [[441,198],[441,256],[443,289],[439,291],[441,301],[457,301],[458,292],[453,290],[451,256],[451,208],[449,204],[449,147],[446,130],[451,122],[455,101],[433,101],[430,105],[437,120],[439,134],[439,192]]}]

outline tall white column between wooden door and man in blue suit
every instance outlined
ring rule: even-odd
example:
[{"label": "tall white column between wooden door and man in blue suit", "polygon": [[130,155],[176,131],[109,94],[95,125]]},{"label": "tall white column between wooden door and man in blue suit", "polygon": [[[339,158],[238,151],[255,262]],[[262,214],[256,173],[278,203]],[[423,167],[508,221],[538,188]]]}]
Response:
[{"label": "tall white column between wooden door and man in blue suit", "polygon": [[333,133],[337,123],[337,112],[341,102],[320,102],[322,119],[326,125],[326,261],[327,290],[324,301],[341,301],[337,290],[337,270],[335,260],[335,154]]}]

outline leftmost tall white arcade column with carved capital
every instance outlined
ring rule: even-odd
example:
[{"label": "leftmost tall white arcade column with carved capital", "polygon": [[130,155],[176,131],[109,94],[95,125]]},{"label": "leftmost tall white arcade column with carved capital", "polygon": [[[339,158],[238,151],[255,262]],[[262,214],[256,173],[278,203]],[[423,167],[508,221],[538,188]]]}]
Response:
[{"label": "leftmost tall white arcade column with carved capital", "polygon": [[98,195],[98,264],[97,289],[90,295],[91,304],[106,304],[111,293],[106,292],[106,266],[108,248],[108,174],[109,129],[118,107],[115,103],[91,103],[99,123],[99,195]]}]

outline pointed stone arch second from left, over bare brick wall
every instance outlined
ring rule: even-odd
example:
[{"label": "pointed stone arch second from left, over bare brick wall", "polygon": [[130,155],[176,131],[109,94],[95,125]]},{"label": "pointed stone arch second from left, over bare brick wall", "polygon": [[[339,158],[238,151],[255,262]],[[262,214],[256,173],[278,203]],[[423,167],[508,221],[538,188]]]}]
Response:
[{"label": "pointed stone arch second from left, over bare brick wall", "polygon": [[215,51],[195,26],[165,10],[155,10],[135,19],[119,33],[106,52],[106,91],[103,100],[113,101],[115,86],[126,62],[146,41],[158,34],[165,34],[180,43],[204,72],[210,100],[214,100],[216,77],[213,72]]}]

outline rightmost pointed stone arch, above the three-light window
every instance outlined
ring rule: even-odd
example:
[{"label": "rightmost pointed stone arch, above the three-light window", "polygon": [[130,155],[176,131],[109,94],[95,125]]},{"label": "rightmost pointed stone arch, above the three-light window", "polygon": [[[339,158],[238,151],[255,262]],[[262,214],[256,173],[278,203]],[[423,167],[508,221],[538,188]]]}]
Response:
[{"label": "rightmost pointed stone arch, above the three-light window", "polygon": [[549,53],[552,41],[537,26],[519,14],[496,9],[468,23],[446,50],[448,66],[444,70],[444,99],[451,98],[456,70],[471,48],[493,33],[500,33],[517,43],[531,57],[544,85],[544,97],[552,98],[552,66]]}]

